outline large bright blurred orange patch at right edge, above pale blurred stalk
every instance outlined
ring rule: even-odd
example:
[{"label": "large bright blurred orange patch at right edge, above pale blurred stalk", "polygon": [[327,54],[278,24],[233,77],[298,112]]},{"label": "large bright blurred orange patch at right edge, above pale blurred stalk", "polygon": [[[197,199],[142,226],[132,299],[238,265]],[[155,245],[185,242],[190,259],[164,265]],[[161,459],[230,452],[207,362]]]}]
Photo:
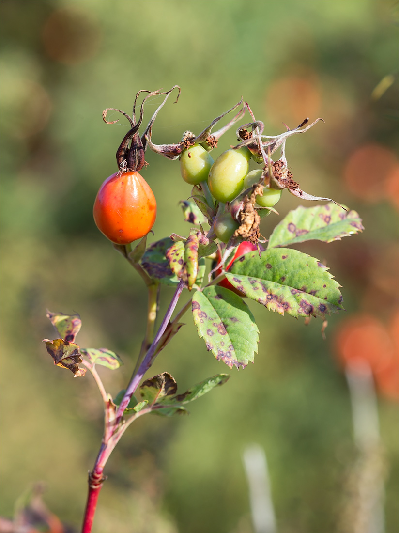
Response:
[{"label": "large bright blurred orange patch at right edge, above pale blurred stalk", "polygon": [[[396,329],[395,329],[396,328]],[[398,396],[398,354],[394,326],[386,328],[376,318],[364,314],[344,322],[336,336],[336,354],[344,367],[362,373],[364,361],[370,365],[378,389],[390,398]]]}]

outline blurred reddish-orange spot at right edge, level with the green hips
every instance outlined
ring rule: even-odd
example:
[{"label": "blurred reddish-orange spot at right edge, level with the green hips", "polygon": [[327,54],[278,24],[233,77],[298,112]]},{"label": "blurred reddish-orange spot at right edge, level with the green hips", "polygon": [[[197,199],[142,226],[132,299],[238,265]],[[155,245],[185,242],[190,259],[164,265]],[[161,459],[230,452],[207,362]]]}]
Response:
[{"label": "blurred reddish-orange spot at right edge, level with the green hips", "polygon": [[366,144],[357,148],[344,168],[344,180],[348,189],[369,203],[376,203],[387,196],[397,205],[396,155],[380,144]]}]

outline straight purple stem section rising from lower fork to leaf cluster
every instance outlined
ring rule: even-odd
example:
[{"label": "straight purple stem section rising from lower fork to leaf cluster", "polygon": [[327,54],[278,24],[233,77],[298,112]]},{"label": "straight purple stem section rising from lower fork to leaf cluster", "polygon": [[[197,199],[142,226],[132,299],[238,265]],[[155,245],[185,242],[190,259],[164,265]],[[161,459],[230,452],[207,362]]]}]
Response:
[{"label": "straight purple stem section rising from lower fork to leaf cluster", "polygon": [[169,304],[168,310],[166,311],[165,317],[162,320],[162,323],[161,323],[161,325],[160,325],[160,327],[158,329],[158,332],[157,332],[156,336],[154,337],[154,340],[152,341],[152,344],[151,344],[150,348],[148,349],[148,352],[145,354],[145,357],[143,359],[142,364],[139,367],[139,370],[137,370],[137,373],[132,376],[131,382],[129,383],[129,385],[128,385],[127,389],[126,389],[124,398],[120,402],[119,408],[118,408],[117,413],[116,413],[115,427],[117,426],[118,422],[120,421],[120,419],[121,419],[121,417],[122,417],[122,415],[124,413],[124,410],[128,406],[128,403],[131,400],[132,395],[134,394],[135,390],[139,386],[139,383],[141,382],[142,377],[144,376],[144,374],[147,372],[147,370],[152,365],[152,359],[153,359],[154,352],[157,349],[157,344],[160,341],[160,338],[162,337],[162,335],[165,333],[165,329],[167,328],[167,326],[169,324],[169,320],[172,317],[173,311],[175,310],[175,307],[177,305],[179,296],[181,295],[183,288],[184,288],[184,281],[180,280],[178,282],[178,285],[177,285],[177,288],[176,288],[176,292],[173,295],[172,301],[170,301],[170,304]]}]

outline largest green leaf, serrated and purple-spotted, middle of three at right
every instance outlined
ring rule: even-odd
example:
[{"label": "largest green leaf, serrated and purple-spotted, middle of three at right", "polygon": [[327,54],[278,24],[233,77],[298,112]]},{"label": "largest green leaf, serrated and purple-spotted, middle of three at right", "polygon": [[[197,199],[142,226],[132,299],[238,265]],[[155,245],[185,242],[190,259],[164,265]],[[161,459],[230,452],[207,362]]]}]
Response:
[{"label": "largest green leaf, serrated and purple-spotted, middle of three at right", "polygon": [[249,252],[235,261],[226,279],[267,309],[293,317],[343,310],[340,285],[320,261],[291,248]]}]

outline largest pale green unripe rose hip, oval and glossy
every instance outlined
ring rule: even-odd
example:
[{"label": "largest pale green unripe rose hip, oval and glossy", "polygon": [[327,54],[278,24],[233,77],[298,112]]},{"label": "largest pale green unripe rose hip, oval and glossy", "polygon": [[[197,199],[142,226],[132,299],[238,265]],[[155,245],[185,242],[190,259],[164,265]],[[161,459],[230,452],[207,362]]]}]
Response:
[{"label": "largest pale green unripe rose hip, oval and glossy", "polygon": [[226,150],[216,159],[208,177],[210,192],[216,200],[231,201],[239,195],[248,173],[250,158],[248,148],[239,148]]}]

